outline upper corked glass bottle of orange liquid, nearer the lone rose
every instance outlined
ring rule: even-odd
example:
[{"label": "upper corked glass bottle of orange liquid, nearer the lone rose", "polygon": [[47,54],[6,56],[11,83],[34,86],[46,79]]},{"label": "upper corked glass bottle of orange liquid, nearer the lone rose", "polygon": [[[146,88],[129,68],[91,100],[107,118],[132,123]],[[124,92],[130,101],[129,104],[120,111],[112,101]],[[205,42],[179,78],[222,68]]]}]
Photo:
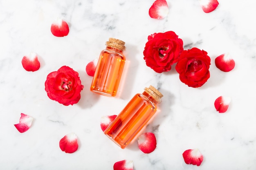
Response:
[{"label": "upper corked glass bottle of orange liquid, nearer the lone rose", "polygon": [[125,42],[109,38],[106,49],[101,51],[90,90],[94,93],[114,97],[124,69]]}]

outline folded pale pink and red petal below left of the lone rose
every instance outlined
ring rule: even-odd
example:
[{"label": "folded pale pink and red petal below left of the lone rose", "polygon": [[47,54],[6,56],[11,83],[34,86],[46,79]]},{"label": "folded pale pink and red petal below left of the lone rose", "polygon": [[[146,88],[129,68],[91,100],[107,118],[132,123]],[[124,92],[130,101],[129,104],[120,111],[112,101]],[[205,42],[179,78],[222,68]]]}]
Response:
[{"label": "folded pale pink and red petal below left of the lone rose", "polygon": [[20,133],[26,132],[27,130],[29,130],[32,121],[33,121],[33,117],[29,116],[29,115],[25,115],[24,113],[20,114],[20,123],[15,124],[14,126],[17,128],[17,130]]}]

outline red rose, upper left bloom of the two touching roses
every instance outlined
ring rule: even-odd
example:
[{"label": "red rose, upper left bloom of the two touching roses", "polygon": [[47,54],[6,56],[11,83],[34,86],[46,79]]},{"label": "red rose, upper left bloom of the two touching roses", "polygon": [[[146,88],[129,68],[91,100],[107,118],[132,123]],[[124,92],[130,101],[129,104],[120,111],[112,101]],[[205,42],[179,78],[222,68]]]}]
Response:
[{"label": "red rose, upper left bloom of the two touching roses", "polygon": [[183,41],[173,31],[154,33],[148,36],[143,51],[146,65],[157,73],[170,71],[171,65],[178,61],[183,51]]}]

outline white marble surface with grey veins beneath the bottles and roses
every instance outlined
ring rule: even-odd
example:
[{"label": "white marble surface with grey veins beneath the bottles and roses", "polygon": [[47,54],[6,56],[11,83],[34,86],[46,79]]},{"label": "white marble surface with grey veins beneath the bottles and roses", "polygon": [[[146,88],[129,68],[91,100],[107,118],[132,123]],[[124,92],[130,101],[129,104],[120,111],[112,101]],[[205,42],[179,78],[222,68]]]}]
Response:
[{"label": "white marble surface with grey veins beneath the bottles and roses", "polygon": [[[168,16],[149,17],[154,0],[2,0],[0,2],[0,169],[111,170],[115,162],[132,160],[135,170],[255,170],[256,169],[256,15],[254,0],[219,0],[204,13],[198,0],[167,0]],[[70,33],[54,37],[50,26],[61,17]],[[175,31],[184,49],[197,47],[211,57],[211,77],[200,88],[180,82],[172,69],[158,74],[147,67],[143,50],[148,35]],[[88,62],[105,49],[109,37],[126,42],[126,71],[119,97],[90,92]],[[36,72],[22,68],[31,51],[39,56]],[[234,70],[225,73],[214,59],[229,52]],[[63,106],[47,97],[48,73],[63,65],[79,72],[81,100]],[[173,67],[174,68],[174,67]],[[157,137],[157,148],[144,154],[133,143],[122,150],[100,128],[103,115],[118,114],[136,93],[152,84],[164,94],[159,113],[147,127]],[[230,96],[224,114],[215,99]],[[34,118],[31,128],[18,132],[20,113]],[[59,140],[74,132],[79,149],[67,154]],[[184,150],[198,148],[201,166],[187,165]]]}]

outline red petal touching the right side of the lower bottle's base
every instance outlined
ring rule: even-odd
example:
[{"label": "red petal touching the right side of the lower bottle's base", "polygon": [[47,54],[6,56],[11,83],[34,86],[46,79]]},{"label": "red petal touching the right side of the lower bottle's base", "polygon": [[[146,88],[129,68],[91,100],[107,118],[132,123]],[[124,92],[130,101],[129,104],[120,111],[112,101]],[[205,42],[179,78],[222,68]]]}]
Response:
[{"label": "red petal touching the right side of the lower bottle's base", "polygon": [[138,137],[139,149],[144,153],[151,153],[157,147],[157,139],[155,134],[151,132],[145,132]]}]

